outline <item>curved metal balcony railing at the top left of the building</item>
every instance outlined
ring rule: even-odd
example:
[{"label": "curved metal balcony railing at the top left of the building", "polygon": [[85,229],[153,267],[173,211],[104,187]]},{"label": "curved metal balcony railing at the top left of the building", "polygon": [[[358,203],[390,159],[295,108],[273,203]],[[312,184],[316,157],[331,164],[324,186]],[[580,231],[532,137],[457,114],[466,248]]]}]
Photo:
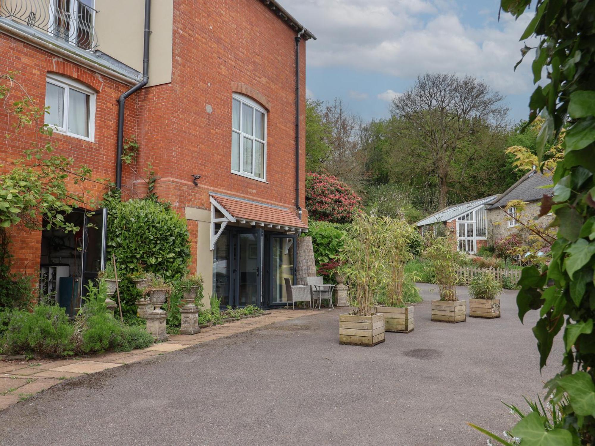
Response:
[{"label": "curved metal balcony railing at the top left of the building", "polygon": [[93,0],[0,0],[0,16],[40,29],[79,48],[98,46]]}]

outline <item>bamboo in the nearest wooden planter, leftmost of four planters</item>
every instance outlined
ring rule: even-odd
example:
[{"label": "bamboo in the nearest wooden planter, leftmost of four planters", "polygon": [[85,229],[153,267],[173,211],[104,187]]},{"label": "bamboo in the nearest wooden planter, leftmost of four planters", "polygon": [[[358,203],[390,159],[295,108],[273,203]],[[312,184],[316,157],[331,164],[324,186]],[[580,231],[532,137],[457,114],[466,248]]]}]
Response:
[{"label": "bamboo in the nearest wooden planter, leftmost of four planters", "polygon": [[384,342],[384,315],[375,312],[383,274],[380,219],[360,213],[340,252],[340,272],[349,284],[350,313],[339,316],[339,343],[373,347]]}]

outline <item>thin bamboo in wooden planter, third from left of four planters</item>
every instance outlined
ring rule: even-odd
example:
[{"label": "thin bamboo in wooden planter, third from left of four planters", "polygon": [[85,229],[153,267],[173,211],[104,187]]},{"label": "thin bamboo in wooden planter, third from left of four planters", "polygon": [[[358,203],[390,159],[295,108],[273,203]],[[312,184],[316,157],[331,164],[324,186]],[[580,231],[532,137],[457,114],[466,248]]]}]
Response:
[{"label": "thin bamboo in wooden planter, third from left of four planters", "polygon": [[430,260],[436,272],[439,300],[432,301],[432,321],[465,322],[467,320],[466,300],[456,296],[456,268],[458,252],[449,237],[430,237],[426,240],[424,255]]}]

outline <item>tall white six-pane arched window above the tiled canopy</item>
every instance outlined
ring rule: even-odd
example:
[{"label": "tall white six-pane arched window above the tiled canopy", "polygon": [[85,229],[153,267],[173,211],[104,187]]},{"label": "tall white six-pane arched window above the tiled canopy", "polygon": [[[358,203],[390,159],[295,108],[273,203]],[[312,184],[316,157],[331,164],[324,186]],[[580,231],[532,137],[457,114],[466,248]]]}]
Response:
[{"label": "tall white six-pane arched window above the tiled canopy", "polygon": [[260,181],[267,177],[267,112],[252,99],[235,94],[231,107],[231,171]]}]

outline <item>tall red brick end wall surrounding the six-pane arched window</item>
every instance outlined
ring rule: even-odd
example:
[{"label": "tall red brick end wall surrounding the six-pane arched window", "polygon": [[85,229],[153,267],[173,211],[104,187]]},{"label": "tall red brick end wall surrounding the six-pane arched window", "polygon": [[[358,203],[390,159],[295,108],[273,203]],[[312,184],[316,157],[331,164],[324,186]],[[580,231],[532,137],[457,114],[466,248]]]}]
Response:
[{"label": "tall red brick end wall surrounding the six-pane arched window", "polygon": [[[151,162],[161,177],[156,192],[180,205],[206,208],[208,191],[218,191],[295,206],[296,33],[256,0],[176,0],[173,29],[172,83],[139,95],[140,171]],[[303,40],[300,56],[303,166]],[[268,183],[231,173],[234,91],[268,109]],[[202,175],[198,187],[192,184],[192,174]],[[304,169],[301,176],[300,201],[305,208]]]}]

